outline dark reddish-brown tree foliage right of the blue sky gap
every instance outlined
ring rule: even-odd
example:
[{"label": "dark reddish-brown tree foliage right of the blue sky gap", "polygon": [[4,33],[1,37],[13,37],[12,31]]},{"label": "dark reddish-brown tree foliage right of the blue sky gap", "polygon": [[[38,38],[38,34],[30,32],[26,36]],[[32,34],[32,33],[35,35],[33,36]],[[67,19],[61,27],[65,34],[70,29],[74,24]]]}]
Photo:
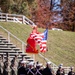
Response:
[{"label": "dark reddish-brown tree foliage right of the blue sky gap", "polygon": [[75,31],[75,0],[61,0],[63,27]]}]

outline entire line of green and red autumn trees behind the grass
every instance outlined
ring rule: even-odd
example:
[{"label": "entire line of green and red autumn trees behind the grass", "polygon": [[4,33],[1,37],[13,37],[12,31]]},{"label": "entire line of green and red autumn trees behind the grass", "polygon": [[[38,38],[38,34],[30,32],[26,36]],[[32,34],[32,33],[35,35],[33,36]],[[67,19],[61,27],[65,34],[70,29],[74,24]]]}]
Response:
[{"label": "entire line of green and red autumn trees behind the grass", "polygon": [[38,27],[75,31],[75,0],[0,0],[0,7],[27,16]]}]

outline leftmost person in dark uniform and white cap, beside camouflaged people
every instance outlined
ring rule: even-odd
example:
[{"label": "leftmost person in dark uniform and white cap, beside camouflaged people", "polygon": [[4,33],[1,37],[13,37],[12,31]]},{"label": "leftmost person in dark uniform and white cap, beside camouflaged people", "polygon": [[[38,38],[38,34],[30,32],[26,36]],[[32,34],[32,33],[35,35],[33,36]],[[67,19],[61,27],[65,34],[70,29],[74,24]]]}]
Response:
[{"label": "leftmost person in dark uniform and white cap, beside camouflaged people", "polygon": [[21,61],[21,66],[18,68],[17,75],[27,75],[26,61]]}]

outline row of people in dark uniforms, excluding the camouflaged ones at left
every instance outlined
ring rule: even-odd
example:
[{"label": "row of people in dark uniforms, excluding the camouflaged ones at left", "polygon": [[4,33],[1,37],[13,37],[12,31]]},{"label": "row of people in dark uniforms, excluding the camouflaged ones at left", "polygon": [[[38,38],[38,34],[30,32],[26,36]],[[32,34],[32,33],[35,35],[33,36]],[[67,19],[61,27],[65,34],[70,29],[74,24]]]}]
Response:
[{"label": "row of people in dark uniforms, excluding the camouflaged ones at left", "polygon": [[[74,68],[71,67],[70,70],[71,71],[69,71],[67,75],[75,75]],[[27,68],[26,62],[22,61],[21,67],[18,69],[18,75],[21,75],[21,74],[24,74],[24,75],[65,75],[65,71],[62,65],[60,65],[58,70],[55,73],[51,67],[51,62],[47,62],[45,68],[43,67],[42,64],[37,64],[35,67],[34,63],[30,63]]]}]

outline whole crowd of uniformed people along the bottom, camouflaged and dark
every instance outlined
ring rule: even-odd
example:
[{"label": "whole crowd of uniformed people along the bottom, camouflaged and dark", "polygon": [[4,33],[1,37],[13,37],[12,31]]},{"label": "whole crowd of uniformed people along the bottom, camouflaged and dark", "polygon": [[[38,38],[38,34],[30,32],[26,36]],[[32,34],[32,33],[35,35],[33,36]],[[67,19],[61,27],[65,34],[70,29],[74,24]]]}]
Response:
[{"label": "whole crowd of uniformed people along the bottom, camouflaged and dark", "polygon": [[[6,59],[1,56],[0,58],[0,75],[65,75],[65,71],[60,65],[56,71],[52,69],[51,62],[47,62],[43,67],[39,62],[28,63],[23,57],[18,60],[15,56],[11,61],[9,56]],[[68,75],[75,75],[73,68],[68,72]]]}]

